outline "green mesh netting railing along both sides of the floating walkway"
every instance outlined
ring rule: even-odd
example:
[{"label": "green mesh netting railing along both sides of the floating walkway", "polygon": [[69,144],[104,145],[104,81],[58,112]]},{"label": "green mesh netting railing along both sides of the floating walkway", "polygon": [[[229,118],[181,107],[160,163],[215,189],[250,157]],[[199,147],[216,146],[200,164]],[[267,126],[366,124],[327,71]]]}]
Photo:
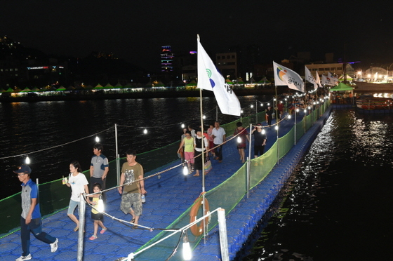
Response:
[{"label": "green mesh netting railing along both sides of the floating walkway", "polygon": [[[319,115],[323,114],[325,108],[330,105],[330,102],[326,101],[325,106],[321,106],[319,108],[319,112],[310,114],[305,116],[302,121],[298,122],[286,135],[279,138],[272,147],[265,152],[262,156],[257,159],[251,160],[251,169],[250,169],[250,187],[253,188],[258,185],[274,168],[278,159],[281,159],[294,145],[295,133],[294,128],[296,128],[296,140],[298,141],[302,135],[304,135],[305,130],[308,130],[312,123],[314,123]],[[232,135],[234,129],[236,128],[236,123],[241,121],[243,126],[248,126],[250,123],[262,122],[265,121],[265,112],[258,113],[258,121],[257,116],[255,114],[241,118],[237,121],[233,121],[231,123],[223,124],[222,128],[225,129],[227,135]],[[160,149],[154,149],[149,152],[145,152],[142,154],[138,154],[138,159],[141,162],[144,162],[145,172],[149,172],[152,170],[156,170],[159,168],[163,168],[166,165],[173,163],[173,161],[177,160],[175,154],[168,153],[168,151],[175,152],[178,149],[179,142],[173,142],[166,147],[162,147]],[[156,159],[160,159],[157,161]],[[119,166],[125,162],[125,159],[119,159]],[[86,176],[88,176],[88,170],[84,172]],[[117,173],[116,169],[116,160],[109,162],[109,173],[107,175],[107,187],[114,187],[117,185]],[[246,164],[241,166],[236,173],[234,173],[230,178],[222,182],[222,184],[218,185],[214,189],[206,192],[205,196],[208,199],[210,204],[210,209],[214,210],[215,208],[224,208],[226,213],[229,213],[239,201],[246,194]],[[69,187],[62,185],[61,179],[53,180],[52,182],[47,182],[39,185],[39,195],[41,201],[41,214],[43,216],[53,215],[60,210],[67,208],[69,203],[70,189]],[[167,228],[179,228],[184,227],[189,224],[189,212],[192,206],[180,215],[171,225]],[[7,236],[10,233],[13,233],[18,230],[15,227],[19,227],[20,221],[20,192],[14,194],[13,196],[9,196],[6,199],[0,200],[0,209],[6,209],[7,215],[1,217],[1,225],[0,227],[0,235],[1,238]],[[198,217],[202,215],[200,208]],[[211,219],[211,223],[209,224],[210,229],[213,229],[215,225],[218,224],[217,218],[213,217]],[[209,229],[209,230],[210,230]],[[146,246],[151,245],[152,243],[159,241],[164,236],[169,234],[170,232],[161,232],[154,239],[150,240],[142,246],[140,249],[145,248]],[[202,236],[193,236],[191,233],[189,234],[189,241],[192,242],[192,247],[195,248]],[[136,257],[135,260],[154,260],[154,253],[159,253],[159,256],[165,256],[166,253],[170,255],[173,251],[173,248],[178,243],[178,236],[172,236],[165,241],[159,243],[159,246],[154,246],[148,251],[144,251]],[[180,255],[181,251],[175,254],[172,260],[182,260]]]}]

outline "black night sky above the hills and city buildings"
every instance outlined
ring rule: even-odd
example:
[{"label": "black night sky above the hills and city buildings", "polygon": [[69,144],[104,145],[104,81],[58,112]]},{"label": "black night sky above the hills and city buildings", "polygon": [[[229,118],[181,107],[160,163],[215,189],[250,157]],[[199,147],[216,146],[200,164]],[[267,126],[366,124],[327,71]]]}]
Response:
[{"label": "black night sky above the hills and city buildings", "polygon": [[311,51],[314,59],[333,52],[364,66],[393,62],[388,2],[343,2],[1,1],[0,35],[48,54],[113,52],[147,69],[158,69],[163,45],[174,53],[196,51],[196,34],[208,53],[258,44],[266,62],[298,51]]}]

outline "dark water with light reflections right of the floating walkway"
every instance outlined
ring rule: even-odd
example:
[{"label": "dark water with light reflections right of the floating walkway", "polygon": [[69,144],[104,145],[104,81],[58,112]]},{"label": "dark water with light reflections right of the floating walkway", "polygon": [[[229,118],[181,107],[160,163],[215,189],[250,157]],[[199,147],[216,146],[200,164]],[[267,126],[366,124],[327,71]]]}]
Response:
[{"label": "dark water with light reflections right of the floating walkway", "polygon": [[392,260],[392,159],[391,115],[334,111],[239,260]]}]

